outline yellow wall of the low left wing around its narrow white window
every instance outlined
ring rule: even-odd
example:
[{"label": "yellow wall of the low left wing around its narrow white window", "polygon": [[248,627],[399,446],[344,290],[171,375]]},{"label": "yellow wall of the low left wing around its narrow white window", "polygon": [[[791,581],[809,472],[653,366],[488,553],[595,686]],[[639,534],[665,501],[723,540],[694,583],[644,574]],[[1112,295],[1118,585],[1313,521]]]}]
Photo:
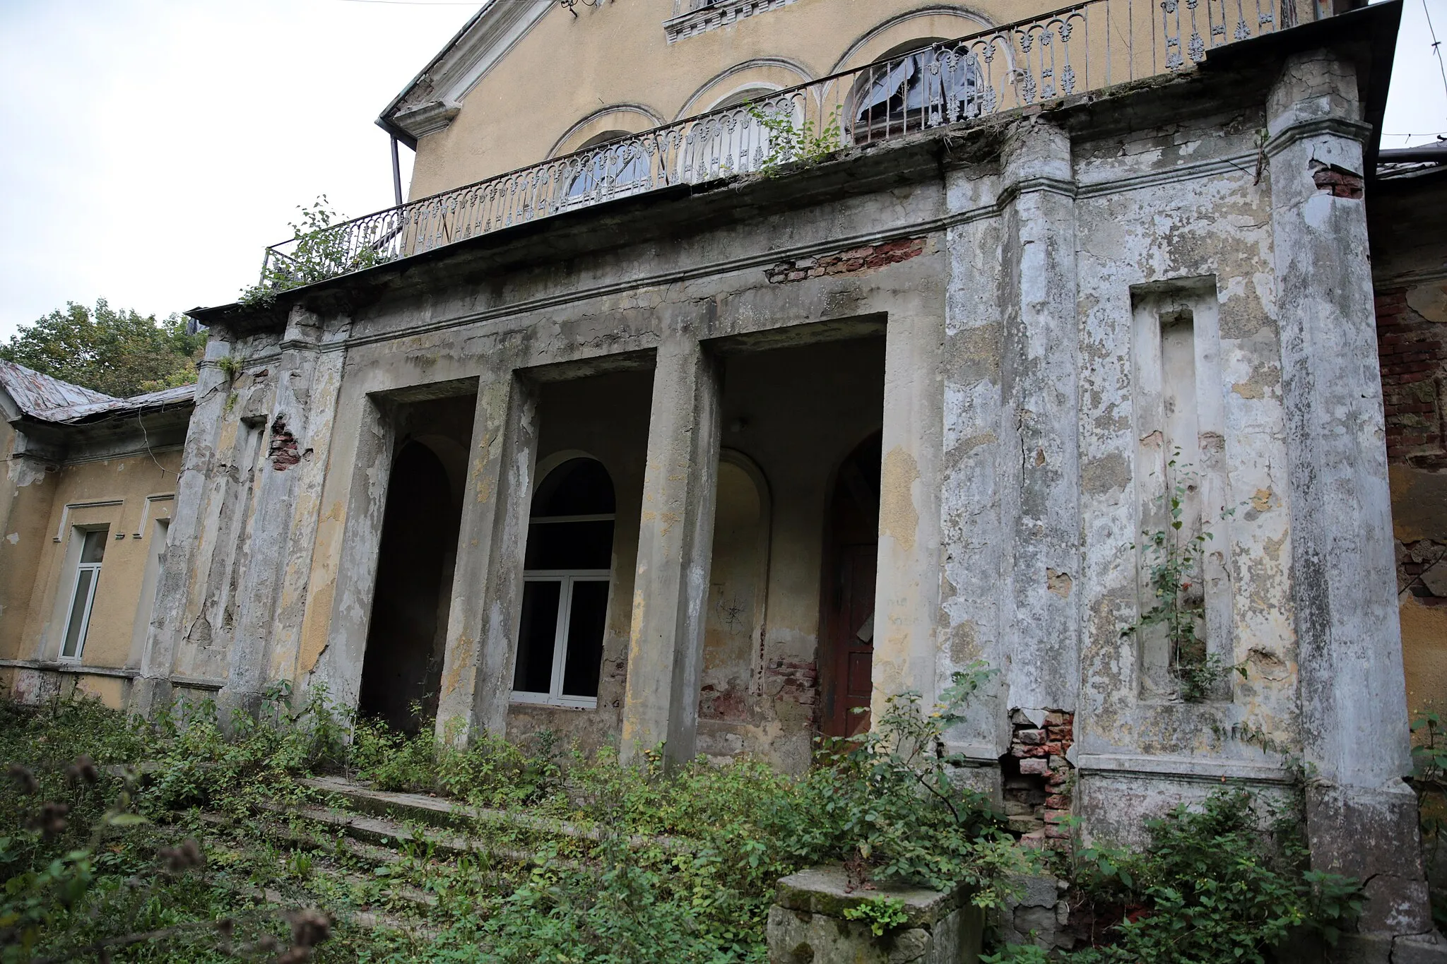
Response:
[{"label": "yellow wall of the low left wing around its narrow white window", "polygon": [[[106,555],[96,585],[90,630],[81,650],[81,665],[122,668],[135,665],[133,637],[137,610],[148,610],[142,600],[146,564],[153,551],[155,520],[169,519],[175,493],[179,449],[133,455],[61,467],[46,477],[51,499],[43,513],[39,538],[29,538],[29,552],[38,556],[25,629],[4,658],[54,660],[59,655],[65,620],[75,585],[72,543],[77,526],[109,528]],[[91,504],[82,503],[110,503]],[[33,526],[32,526],[33,528]],[[59,541],[56,541],[59,536]],[[123,538],[117,538],[123,536]],[[36,545],[38,542],[38,545]],[[9,619],[6,620],[10,621]],[[101,695],[107,702],[120,700],[120,681],[81,678],[81,689]]]}]

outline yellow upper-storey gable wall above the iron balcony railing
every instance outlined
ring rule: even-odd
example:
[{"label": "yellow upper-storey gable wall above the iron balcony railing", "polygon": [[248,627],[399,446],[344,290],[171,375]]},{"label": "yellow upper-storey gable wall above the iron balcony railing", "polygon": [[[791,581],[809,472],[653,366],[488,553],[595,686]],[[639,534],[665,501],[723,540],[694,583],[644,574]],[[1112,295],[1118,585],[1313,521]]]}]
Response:
[{"label": "yellow upper-storey gable wall above the iron balcony railing", "polygon": [[[674,43],[663,29],[674,16],[674,0],[577,4],[577,17],[554,6],[463,95],[451,124],[420,140],[410,197],[577,150],[602,132],[635,133],[692,117],[741,90],[794,87],[864,66],[909,40],[961,38],[1059,6],[1056,0],[796,0]],[[1298,7],[1298,16],[1311,16],[1311,0]],[[1145,66],[1150,48],[1145,32],[1153,19],[1136,20],[1143,32],[1136,52]]]}]

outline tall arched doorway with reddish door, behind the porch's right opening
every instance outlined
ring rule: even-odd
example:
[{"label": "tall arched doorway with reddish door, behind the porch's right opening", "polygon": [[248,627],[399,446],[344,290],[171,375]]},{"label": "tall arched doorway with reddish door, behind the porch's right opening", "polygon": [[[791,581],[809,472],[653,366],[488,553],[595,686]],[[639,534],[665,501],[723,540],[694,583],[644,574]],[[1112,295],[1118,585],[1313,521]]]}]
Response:
[{"label": "tall arched doorway with reddish door, behind the porch's right opening", "polygon": [[828,736],[870,728],[874,577],[880,551],[880,435],[861,442],[833,484],[825,529],[819,663]]}]

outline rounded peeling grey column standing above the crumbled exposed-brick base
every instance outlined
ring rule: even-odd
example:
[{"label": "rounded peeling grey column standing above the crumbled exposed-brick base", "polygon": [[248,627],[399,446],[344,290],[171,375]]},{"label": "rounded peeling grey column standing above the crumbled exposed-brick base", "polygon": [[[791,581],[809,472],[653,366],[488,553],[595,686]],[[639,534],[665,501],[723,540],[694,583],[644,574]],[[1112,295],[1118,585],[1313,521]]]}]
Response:
[{"label": "rounded peeling grey column standing above the crumbled exposed-brick base", "polygon": [[1029,120],[1004,146],[1000,478],[1010,705],[1075,710],[1079,682],[1079,322],[1069,136]]}]

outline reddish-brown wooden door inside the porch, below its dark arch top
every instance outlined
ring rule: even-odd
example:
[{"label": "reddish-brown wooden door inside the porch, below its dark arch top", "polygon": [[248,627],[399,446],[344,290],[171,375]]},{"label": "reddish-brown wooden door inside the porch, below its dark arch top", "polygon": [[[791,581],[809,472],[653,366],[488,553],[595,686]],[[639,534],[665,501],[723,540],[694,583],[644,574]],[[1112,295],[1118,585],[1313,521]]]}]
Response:
[{"label": "reddish-brown wooden door inside the porch, below its dark arch top", "polygon": [[851,737],[870,728],[874,666],[874,567],[878,545],[855,543],[835,551],[835,580],[826,619],[832,656],[833,707],[829,736]]}]

